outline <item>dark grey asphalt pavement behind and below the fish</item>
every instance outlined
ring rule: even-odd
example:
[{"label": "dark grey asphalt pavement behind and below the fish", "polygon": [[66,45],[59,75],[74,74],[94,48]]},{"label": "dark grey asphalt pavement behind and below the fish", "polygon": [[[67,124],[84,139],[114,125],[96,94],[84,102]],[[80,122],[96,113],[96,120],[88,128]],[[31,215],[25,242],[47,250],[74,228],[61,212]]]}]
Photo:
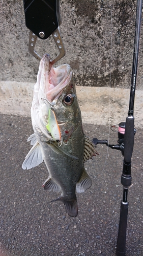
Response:
[{"label": "dark grey asphalt pavement behind and below the fish", "polygon": [[[98,145],[99,156],[85,163],[93,185],[77,194],[78,216],[71,218],[61,202],[50,203],[56,193],[44,191],[48,177],[45,164],[21,168],[31,145],[31,118],[1,114],[1,249],[0,255],[69,256],[116,255],[120,201],[123,196],[121,152]],[[108,139],[108,127],[83,124],[90,138]],[[143,255],[143,143],[137,129],[132,156],[132,186],[129,188],[126,256]],[[117,133],[110,131],[110,143]]]}]

